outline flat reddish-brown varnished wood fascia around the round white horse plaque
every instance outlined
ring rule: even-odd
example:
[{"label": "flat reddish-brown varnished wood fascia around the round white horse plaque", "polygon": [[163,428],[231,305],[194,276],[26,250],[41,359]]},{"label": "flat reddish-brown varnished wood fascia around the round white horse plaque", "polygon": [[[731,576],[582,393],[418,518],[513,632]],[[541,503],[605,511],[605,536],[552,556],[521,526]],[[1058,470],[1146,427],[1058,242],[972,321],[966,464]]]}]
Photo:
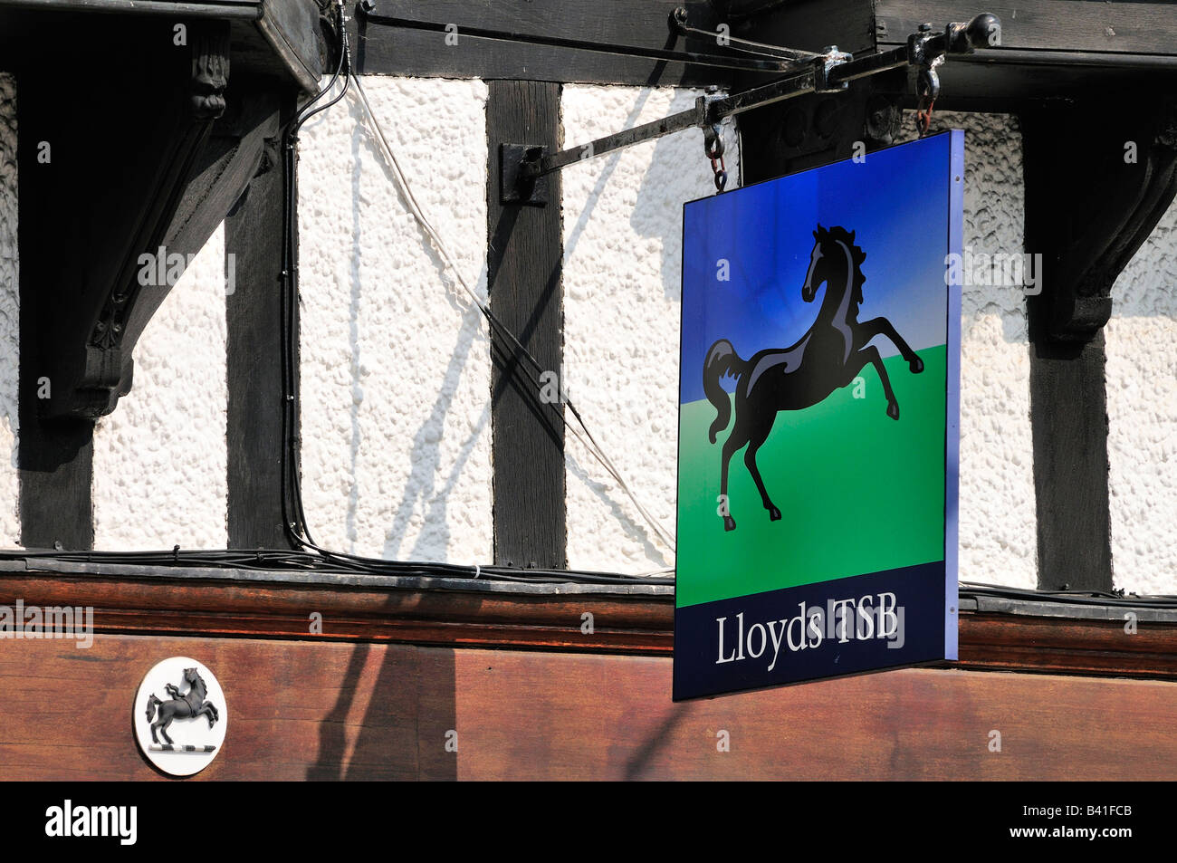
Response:
[{"label": "flat reddish-brown varnished wood fascia around the round white horse plaque", "polygon": [[926,669],[673,704],[666,658],[129,636],[0,642],[0,775],[160,778],[128,711],[175,655],[228,699],[197,781],[1177,776],[1173,683]]}]

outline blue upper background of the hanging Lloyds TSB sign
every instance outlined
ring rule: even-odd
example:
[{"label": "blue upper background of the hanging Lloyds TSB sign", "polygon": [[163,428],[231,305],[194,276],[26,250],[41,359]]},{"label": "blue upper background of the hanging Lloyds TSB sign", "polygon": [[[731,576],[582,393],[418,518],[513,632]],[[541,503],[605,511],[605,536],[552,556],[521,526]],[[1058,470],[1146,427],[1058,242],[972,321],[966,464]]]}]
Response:
[{"label": "blue upper background of the hanging Lloyds TSB sign", "polygon": [[703,361],[717,339],[746,358],[792,345],[813,324],[826,288],[799,298],[818,225],[853,231],[866,252],[858,320],[885,314],[916,351],[945,344],[951,146],[945,133],[687,203],[680,403],[705,398]]}]

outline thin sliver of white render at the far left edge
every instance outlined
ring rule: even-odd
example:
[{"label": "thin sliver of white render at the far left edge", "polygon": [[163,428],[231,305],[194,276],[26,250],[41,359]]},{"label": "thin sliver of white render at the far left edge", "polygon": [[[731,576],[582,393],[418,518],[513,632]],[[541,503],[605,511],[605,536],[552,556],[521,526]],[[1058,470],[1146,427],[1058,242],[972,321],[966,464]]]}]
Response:
[{"label": "thin sliver of white render at the far left edge", "polygon": [[16,379],[20,288],[16,266],[16,79],[0,74],[0,546],[20,542]]}]

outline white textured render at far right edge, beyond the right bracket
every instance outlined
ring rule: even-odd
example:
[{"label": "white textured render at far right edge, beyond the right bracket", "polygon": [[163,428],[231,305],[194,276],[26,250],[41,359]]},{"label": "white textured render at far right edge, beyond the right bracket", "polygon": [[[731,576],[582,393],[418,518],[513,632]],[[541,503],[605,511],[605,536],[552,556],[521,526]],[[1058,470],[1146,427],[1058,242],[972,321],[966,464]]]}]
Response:
[{"label": "white textured render at far right edge, beyond the right bracket", "polygon": [[1177,206],[1116,280],[1105,334],[1113,582],[1177,593]]}]

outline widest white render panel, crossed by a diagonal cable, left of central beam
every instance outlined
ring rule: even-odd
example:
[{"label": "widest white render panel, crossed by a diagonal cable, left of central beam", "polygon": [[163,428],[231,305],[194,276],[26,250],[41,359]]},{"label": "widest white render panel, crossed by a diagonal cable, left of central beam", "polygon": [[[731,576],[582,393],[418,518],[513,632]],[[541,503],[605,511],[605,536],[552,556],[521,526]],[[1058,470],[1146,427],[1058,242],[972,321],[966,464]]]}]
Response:
[{"label": "widest white render panel, crossed by a diagonal cable, left of central beam", "polygon": [[[366,77],[430,221],[486,294],[486,86]],[[314,539],[487,563],[491,363],[350,98],[301,132],[302,493]]]}]

